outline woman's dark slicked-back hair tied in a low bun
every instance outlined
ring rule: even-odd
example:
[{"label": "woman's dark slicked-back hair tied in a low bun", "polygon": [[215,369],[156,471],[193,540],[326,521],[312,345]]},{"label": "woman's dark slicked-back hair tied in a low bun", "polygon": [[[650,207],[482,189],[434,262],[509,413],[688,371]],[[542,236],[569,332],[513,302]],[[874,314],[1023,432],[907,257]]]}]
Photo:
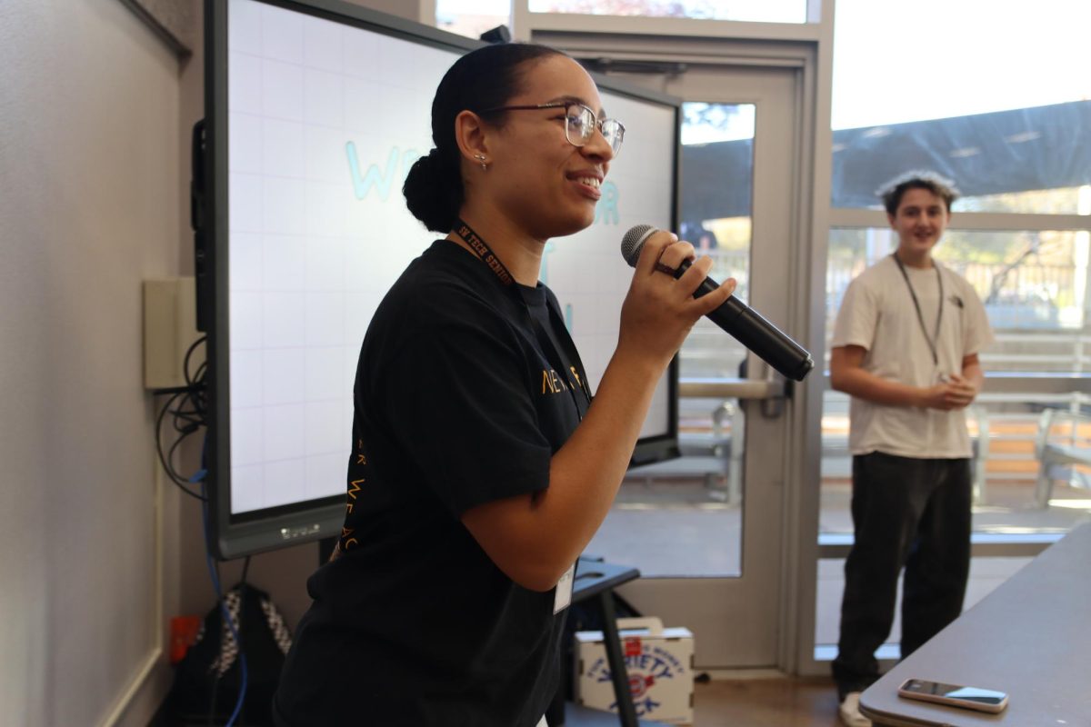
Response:
[{"label": "woman's dark slicked-back hair tied in a low bun", "polygon": [[432,100],[435,148],[413,163],[401,187],[409,211],[424,227],[448,232],[465,198],[455,117],[504,106],[516,95],[525,64],[563,54],[548,46],[505,43],[470,51],[447,70]]}]

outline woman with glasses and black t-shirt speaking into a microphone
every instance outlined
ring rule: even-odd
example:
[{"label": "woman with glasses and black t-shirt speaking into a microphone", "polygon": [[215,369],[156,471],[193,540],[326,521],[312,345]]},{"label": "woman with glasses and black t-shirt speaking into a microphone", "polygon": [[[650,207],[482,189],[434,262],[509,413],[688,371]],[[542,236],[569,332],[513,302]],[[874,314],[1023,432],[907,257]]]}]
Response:
[{"label": "woman with glasses and black t-shirt speaking into a microphone", "polygon": [[538,278],[547,241],[594,221],[624,133],[590,75],[551,48],[480,48],[440,83],[435,148],[404,192],[444,237],[406,268],[364,337],[345,525],[308,580],[279,725],[544,724],[574,564],[610,509],[656,383],[734,289],[695,300],[711,260],[675,279],[693,246],[649,238],[592,399]]}]

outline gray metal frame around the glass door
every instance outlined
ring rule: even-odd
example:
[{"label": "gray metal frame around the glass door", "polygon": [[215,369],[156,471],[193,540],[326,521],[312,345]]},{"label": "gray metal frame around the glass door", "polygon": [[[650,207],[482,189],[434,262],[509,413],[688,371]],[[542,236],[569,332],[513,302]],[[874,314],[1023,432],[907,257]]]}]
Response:
[{"label": "gray metal frame around the glass door", "polygon": [[[832,8],[826,7],[823,11],[831,15]],[[679,70],[681,66],[700,65],[722,68],[726,72],[731,69],[767,69],[793,74],[795,118],[792,137],[795,154],[792,179],[783,190],[782,198],[789,201],[786,203],[789,222],[787,245],[792,251],[792,260],[787,268],[789,286],[786,289],[793,290],[794,294],[778,313],[782,313],[779,319],[786,327],[802,331],[798,338],[815,360],[824,361],[830,159],[828,154],[822,156],[817,150],[828,150],[831,140],[828,123],[831,43],[827,43],[825,36],[831,35],[832,23],[786,29],[784,26],[770,24],[682,19],[542,15],[526,12],[525,2],[514,3],[513,21],[520,39],[564,49],[577,59],[652,63],[667,72],[675,64]],[[671,34],[664,34],[664,31]],[[762,34],[767,35],[759,37]],[[745,98],[738,98],[726,102],[745,101]],[[824,121],[819,124],[818,119]],[[758,173],[755,165],[755,179]],[[755,295],[755,300],[759,301],[760,295]],[[727,668],[770,667],[789,674],[819,674],[826,669],[814,658],[824,385],[823,371],[814,372],[803,385],[795,386],[794,396],[786,407],[783,431],[787,447],[782,450],[783,471],[778,473],[782,494],[777,512],[769,516],[779,519],[779,522],[766,523],[782,536],[778,562],[771,566],[779,578],[776,589],[779,596],[774,608],[777,643],[771,663],[729,664]],[[747,440],[754,441],[750,436]],[[751,467],[753,472],[753,468],[763,465],[752,462]],[[744,526],[744,531],[753,526],[751,523],[750,528]],[[745,534],[743,557],[745,568]],[[639,603],[647,599],[646,593],[657,587],[635,582],[625,592],[633,594],[634,601]],[[661,595],[651,597],[657,604],[667,599],[669,594],[668,598]],[[756,608],[769,609],[769,604],[748,604],[743,613],[753,613]],[[731,614],[709,617],[731,619]],[[745,623],[736,622],[731,627],[744,629]],[[711,666],[715,668],[717,665]]]}]

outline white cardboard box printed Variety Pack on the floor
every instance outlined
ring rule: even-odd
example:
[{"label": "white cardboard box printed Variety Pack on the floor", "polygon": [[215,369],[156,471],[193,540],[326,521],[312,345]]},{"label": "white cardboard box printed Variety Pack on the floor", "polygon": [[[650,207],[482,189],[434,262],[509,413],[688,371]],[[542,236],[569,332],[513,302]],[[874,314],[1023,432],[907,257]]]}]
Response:
[{"label": "white cardboard box printed Variety Pack on the floor", "polygon": [[[693,633],[664,629],[658,618],[620,618],[625,670],[636,716],[673,725],[693,723]],[[601,631],[577,631],[576,702],[616,714]]]}]

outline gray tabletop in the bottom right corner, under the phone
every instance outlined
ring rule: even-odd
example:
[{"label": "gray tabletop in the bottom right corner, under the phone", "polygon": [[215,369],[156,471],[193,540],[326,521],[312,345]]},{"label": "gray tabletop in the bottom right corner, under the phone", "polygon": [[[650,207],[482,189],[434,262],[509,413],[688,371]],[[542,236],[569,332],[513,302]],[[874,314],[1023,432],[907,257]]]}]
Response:
[{"label": "gray tabletop in the bottom right corner, under the phone", "polygon": [[[906,679],[998,689],[997,715],[898,696]],[[872,684],[876,725],[1091,726],[1091,523],[1072,530]]]}]

